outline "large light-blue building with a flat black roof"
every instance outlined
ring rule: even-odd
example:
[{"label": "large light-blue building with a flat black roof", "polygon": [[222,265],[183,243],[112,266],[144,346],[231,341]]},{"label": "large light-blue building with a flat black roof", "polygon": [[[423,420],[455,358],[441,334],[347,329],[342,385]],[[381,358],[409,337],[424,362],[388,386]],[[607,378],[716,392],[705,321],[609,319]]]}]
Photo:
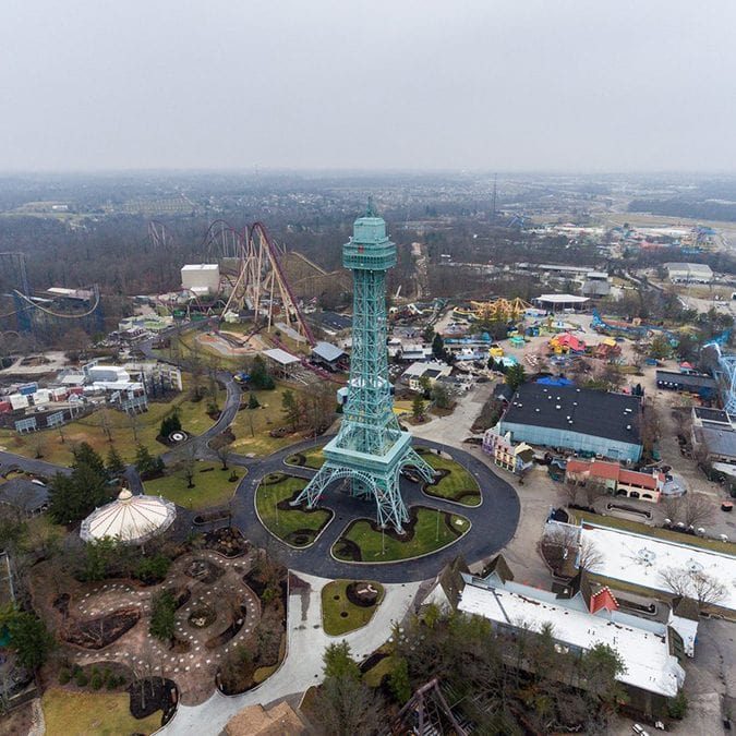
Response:
[{"label": "large light-blue building with a flat black roof", "polygon": [[636,462],[641,457],[641,398],[572,386],[523,384],[498,432],[526,442]]}]

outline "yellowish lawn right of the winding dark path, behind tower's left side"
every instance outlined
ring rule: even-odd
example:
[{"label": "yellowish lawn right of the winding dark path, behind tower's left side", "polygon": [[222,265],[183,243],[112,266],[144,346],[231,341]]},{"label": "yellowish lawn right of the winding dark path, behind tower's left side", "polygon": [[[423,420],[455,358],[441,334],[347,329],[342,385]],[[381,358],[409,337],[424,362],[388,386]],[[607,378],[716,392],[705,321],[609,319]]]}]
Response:
[{"label": "yellowish lawn right of the winding dark path, behind tower's left side", "polygon": [[[254,455],[265,457],[276,450],[292,445],[301,439],[298,435],[287,437],[272,437],[270,430],[277,430],[286,425],[281,411],[281,396],[285,386],[277,385],[273,391],[253,391],[258,399],[258,409],[241,409],[233,420],[230,429],[236,435],[232,449],[240,455]],[[299,391],[291,389],[300,398]],[[241,402],[248,407],[249,391],[244,390]]]}]

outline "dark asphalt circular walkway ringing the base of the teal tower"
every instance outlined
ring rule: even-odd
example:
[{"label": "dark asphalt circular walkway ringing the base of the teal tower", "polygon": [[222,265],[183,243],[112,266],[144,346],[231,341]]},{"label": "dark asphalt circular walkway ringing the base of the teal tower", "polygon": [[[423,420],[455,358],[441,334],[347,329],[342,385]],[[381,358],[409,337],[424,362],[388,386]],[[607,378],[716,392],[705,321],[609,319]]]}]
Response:
[{"label": "dark asphalt circular walkway ringing the base of the teal tower", "polygon": [[293,550],[282,544],[258,520],[255,512],[255,490],[263,476],[272,472],[283,471],[300,478],[312,478],[315,471],[309,468],[287,467],[283,460],[294,453],[323,445],[327,439],[328,437],[310,439],[274,453],[252,467],[250,474],[240,482],[236,491],[234,524],[255,544],[261,546],[269,544],[272,548],[277,545],[280,560],[290,569],[325,578],[352,578],[360,575],[381,582],[426,580],[436,576],[441,567],[457,555],[462,554],[466,562],[471,564],[490,557],[514,536],[520,511],[516,491],[483,461],[464,450],[422,439],[420,441],[422,446],[444,450],[473,474],[481,487],[483,503],[476,507],[469,507],[429,497],[422,493],[419,484],[406,479],[401,483],[403,498],[407,506],[422,505],[467,517],[472,527],[463,536],[443,550],[417,559],[377,564],[338,562],[330,555],[333,544],[353,519],[373,518],[374,508],[371,503],[328,490],[322,498],[321,506],[333,510],[335,516],[317,541],[305,550]]}]

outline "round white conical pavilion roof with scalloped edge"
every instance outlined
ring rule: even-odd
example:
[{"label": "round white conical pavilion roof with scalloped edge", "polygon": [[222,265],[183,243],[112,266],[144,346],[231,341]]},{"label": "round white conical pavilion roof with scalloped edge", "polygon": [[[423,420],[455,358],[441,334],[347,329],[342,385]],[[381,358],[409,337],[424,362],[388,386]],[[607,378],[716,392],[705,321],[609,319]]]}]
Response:
[{"label": "round white conical pavilion roof with scalloped edge", "polygon": [[125,543],[145,542],[167,530],[177,508],[160,496],[134,496],[123,488],[118,497],[96,508],[83,522],[80,536],[94,542],[110,536]]}]

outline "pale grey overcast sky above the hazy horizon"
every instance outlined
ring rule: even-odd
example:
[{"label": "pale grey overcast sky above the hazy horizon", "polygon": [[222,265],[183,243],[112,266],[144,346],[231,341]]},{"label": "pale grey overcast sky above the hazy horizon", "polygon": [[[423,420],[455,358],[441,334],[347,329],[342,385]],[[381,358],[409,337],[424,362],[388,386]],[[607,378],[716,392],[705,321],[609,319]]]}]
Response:
[{"label": "pale grey overcast sky above the hazy horizon", "polygon": [[735,0],[2,0],[0,170],[736,171]]}]

